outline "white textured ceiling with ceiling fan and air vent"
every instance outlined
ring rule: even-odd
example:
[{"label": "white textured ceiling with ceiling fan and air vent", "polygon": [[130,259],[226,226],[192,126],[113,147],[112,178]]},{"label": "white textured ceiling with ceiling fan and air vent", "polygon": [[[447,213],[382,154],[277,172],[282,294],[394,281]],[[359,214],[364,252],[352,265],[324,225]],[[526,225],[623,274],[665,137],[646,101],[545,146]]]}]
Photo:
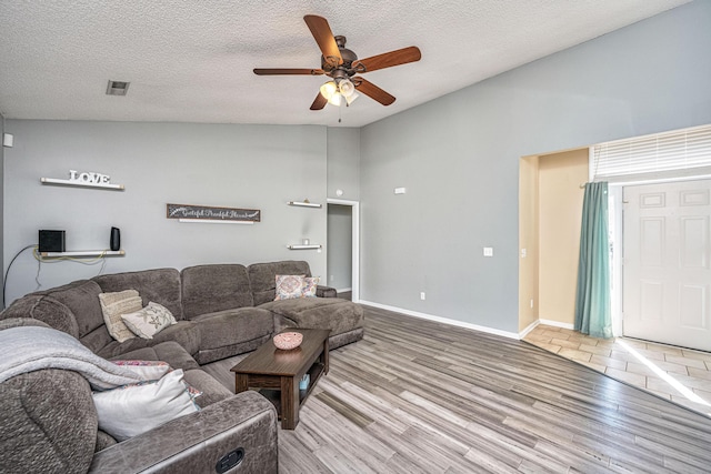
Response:
[{"label": "white textured ceiling with ceiling fan and air vent", "polygon": [[[687,0],[0,0],[0,111],[10,119],[361,127]],[[323,77],[304,14],[360,58],[422,59],[365,78],[397,98],[309,107]],[[107,81],[130,81],[124,98]]]}]

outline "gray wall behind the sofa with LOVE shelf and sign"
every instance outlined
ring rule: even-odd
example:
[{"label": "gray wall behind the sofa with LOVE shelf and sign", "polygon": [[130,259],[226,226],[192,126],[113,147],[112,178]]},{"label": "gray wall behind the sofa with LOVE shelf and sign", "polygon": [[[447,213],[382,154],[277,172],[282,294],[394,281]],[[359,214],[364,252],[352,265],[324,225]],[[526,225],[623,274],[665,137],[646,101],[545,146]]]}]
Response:
[{"label": "gray wall behind the sofa with LOVE shelf and sign", "polygon": [[[39,229],[67,231],[67,250],[106,249],[121,229],[123,258],[104,273],[216,262],[307,260],[326,276],[326,252],[290,251],[309,238],[326,244],[327,129],[323,127],[8,120],[3,252],[37,243]],[[276,139],[278,138],[278,139]],[[124,192],[41,185],[68,170],[96,171]],[[254,225],[191,224],[166,219],[166,203],[260,209]],[[8,303],[37,288],[37,261],[22,254],[8,279]],[[91,278],[101,265],[42,263],[51,288]]]}]

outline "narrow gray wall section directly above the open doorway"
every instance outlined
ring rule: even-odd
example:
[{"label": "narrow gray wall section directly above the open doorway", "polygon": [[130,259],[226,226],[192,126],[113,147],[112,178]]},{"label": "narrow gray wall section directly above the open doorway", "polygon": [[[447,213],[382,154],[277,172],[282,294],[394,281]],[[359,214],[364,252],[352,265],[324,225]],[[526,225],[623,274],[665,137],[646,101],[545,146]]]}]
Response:
[{"label": "narrow gray wall section directly above the open doorway", "polygon": [[[358,201],[360,199],[360,129],[329,128],[328,196]],[[342,190],[343,195],[336,194]]]}]

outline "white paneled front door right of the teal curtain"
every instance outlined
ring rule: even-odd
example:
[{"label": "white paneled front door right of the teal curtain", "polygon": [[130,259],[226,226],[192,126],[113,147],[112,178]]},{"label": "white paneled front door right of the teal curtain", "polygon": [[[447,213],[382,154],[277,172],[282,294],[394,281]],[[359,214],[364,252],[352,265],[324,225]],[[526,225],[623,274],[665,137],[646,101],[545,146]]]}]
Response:
[{"label": "white paneled front door right of the teal curtain", "polygon": [[624,335],[711,351],[711,180],[624,188]]}]

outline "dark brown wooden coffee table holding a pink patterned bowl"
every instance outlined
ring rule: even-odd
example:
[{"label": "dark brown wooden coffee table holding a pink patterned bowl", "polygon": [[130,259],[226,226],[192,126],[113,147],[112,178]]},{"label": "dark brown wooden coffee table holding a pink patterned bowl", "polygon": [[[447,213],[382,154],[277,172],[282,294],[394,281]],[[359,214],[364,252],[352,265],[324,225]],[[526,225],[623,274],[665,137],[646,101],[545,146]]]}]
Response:
[{"label": "dark brown wooden coffee table holding a pink patterned bowl", "polygon": [[[282,332],[300,332],[303,342],[297,349],[282,351],[269,340],[247,359],[230,369],[234,372],[236,392],[262,389],[262,393],[277,407],[283,430],[299,424],[299,407],[307,400],[321,375],[329,372],[330,330],[288,329]],[[307,390],[299,390],[299,381],[309,374]]]}]

